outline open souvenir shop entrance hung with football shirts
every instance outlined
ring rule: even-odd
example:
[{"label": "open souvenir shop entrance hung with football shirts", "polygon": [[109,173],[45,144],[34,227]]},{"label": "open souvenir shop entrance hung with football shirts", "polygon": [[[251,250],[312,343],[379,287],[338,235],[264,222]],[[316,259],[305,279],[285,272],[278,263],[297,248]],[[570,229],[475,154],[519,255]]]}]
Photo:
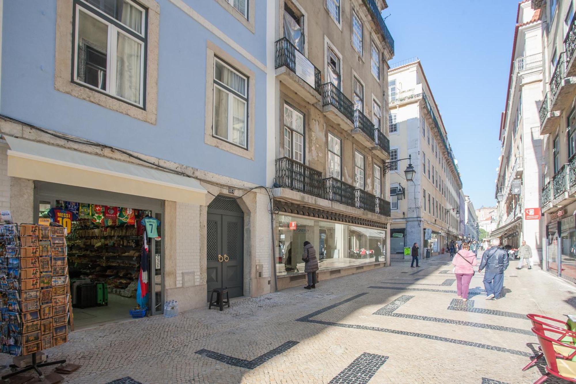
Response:
[{"label": "open souvenir shop entrance hung with football shirts", "polygon": [[35,217],[68,230],[75,329],[163,312],[163,201],[41,181],[34,198]]}]

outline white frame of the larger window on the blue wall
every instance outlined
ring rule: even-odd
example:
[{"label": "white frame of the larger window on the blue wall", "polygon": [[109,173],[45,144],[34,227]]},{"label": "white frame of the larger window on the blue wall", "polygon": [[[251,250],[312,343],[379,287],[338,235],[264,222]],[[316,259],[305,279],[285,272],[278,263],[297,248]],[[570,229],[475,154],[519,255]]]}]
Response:
[{"label": "white frame of the larger window on the blue wall", "polygon": [[[75,25],[74,25],[74,41],[72,42],[73,44],[73,52],[74,52],[74,67],[73,67],[73,80],[74,82],[78,83],[78,84],[82,84],[82,86],[86,86],[86,88],[89,89],[93,89],[96,92],[100,92],[103,93],[104,95],[108,95],[111,97],[114,97],[115,99],[118,100],[122,100],[126,103],[132,104],[134,106],[138,106],[141,108],[144,108],[146,105],[146,100],[145,100],[145,66],[146,66],[146,29],[145,29],[145,22],[144,20],[146,20],[147,15],[146,15],[146,10],[143,9],[142,7],[136,5],[135,3],[131,2],[130,0],[126,0],[130,3],[130,5],[136,7],[137,9],[142,11],[142,33],[138,33],[136,31],[134,31],[134,29],[128,27],[125,24],[122,24],[122,22],[113,19],[113,17],[109,16],[108,14],[104,13],[103,11],[97,9],[96,7],[90,5],[89,3],[86,3],[84,1],[82,1],[82,4],[86,4],[88,7],[83,7],[81,5],[79,5],[78,3],[74,4],[74,13],[75,13]],[[90,9],[93,9],[93,11],[91,11]],[[80,80],[78,78],[78,32],[79,32],[79,22],[80,22],[80,12],[84,12],[86,15],[88,15],[88,17],[92,17],[95,20],[97,20],[98,22],[101,22],[105,25],[107,25],[108,27],[108,41],[107,41],[107,52],[106,52],[106,89],[101,89],[98,88],[97,86],[93,86],[90,85],[82,80]],[[142,39],[136,39],[134,36],[130,35],[130,33],[127,33],[125,31],[123,31],[122,28],[119,28],[117,25],[113,24],[112,22],[109,22],[107,20],[105,20],[103,17],[100,17],[99,14],[104,15],[105,17],[108,17],[112,20],[115,20],[115,24],[119,24],[122,25],[123,28],[126,28],[127,30],[130,30],[134,33],[136,33],[137,35],[140,35],[142,37]],[[116,94],[116,55],[118,54],[118,33],[122,33],[122,35],[129,37],[130,39],[134,40],[135,42],[140,44],[141,47],[141,52],[140,52],[140,95],[139,95],[139,99],[140,99],[140,103],[134,103],[134,101],[132,100],[128,100],[125,99],[122,96],[119,96]]]}]

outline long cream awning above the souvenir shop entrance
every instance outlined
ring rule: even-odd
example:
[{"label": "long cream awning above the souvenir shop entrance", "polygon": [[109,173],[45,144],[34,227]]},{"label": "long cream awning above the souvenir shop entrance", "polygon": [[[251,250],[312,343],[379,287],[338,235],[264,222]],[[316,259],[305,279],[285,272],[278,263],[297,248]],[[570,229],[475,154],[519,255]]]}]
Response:
[{"label": "long cream awning above the souvenir shop entrance", "polygon": [[8,175],[169,201],[206,205],[206,189],[193,178],[76,150],[5,137]]}]

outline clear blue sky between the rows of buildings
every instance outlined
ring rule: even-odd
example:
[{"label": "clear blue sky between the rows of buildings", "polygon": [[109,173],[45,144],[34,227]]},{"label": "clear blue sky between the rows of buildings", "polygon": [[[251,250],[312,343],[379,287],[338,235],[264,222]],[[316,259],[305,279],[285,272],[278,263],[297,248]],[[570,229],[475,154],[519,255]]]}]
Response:
[{"label": "clear blue sky between the rows of buildings", "polygon": [[438,103],[464,193],[495,205],[500,114],[505,108],[518,2],[388,0],[391,63],[418,56]]}]

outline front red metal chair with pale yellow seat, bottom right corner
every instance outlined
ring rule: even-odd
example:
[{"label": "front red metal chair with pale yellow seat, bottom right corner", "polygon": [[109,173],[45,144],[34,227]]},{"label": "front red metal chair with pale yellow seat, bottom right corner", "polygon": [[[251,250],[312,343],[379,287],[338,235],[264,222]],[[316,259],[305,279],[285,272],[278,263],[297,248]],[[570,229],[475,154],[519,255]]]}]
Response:
[{"label": "front red metal chair with pale yellow seat, bottom right corner", "polygon": [[576,333],[561,330],[549,329],[542,327],[532,327],[532,332],[538,337],[540,348],[544,353],[546,359],[546,373],[537,379],[534,384],[541,384],[546,381],[550,375],[554,375],[560,379],[564,379],[576,383],[576,362],[572,359],[576,356],[576,345],[566,344],[558,341],[556,338],[546,336],[544,333],[560,335],[560,338],[565,337],[568,333],[576,336]]}]

